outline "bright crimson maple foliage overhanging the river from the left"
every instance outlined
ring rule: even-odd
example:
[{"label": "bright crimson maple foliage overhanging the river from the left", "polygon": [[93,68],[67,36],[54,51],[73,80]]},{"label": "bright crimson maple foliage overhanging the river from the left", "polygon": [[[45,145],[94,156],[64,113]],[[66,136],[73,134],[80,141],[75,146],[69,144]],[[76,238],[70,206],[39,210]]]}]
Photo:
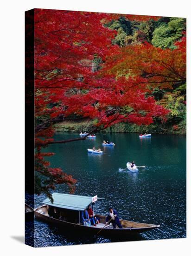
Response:
[{"label": "bright crimson maple foliage overhanging the river from the left", "polygon": [[[52,153],[42,153],[41,149],[52,143],[84,140],[86,137],[54,141],[54,123],[72,115],[88,117],[96,120],[90,134],[121,121],[150,124],[153,116],[164,118],[168,113],[152,97],[145,97],[146,84],[150,82],[148,77],[139,73],[129,78],[116,77],[114,68],[120,63],[122,65],[125,55],[123,57],[121,49],[112,44],[116,31],[105,27],[104,22],[117,17],[108,13],[35,10],[37,194],[44,191],[51,197],[49,189],[57,183],[67,183],[74,191],[76,183],[60,168],[50,168],[50,162],[44,157]],[[151,18],[136,17],[140,20]],[[134,19],[134,15],[127,18]],[[103,68],[95,72],[93,66],[97,58],[102,59]],[[48,177],[48,184],[42,185],[39,173]]]}]

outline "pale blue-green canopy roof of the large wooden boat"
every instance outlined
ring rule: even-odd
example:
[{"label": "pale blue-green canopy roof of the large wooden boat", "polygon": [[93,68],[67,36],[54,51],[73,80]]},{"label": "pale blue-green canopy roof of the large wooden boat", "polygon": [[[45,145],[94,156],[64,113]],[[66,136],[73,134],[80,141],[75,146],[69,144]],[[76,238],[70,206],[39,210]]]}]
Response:
[{"label": "pale blue-green canopy roof of the large wooden boat", "polygon": [[46,198],[43,203],[53,207],[83,211],[89,206],[90,203],[93,202],[92,200],[94,197],[53,193],[52,198],[53,203],[51,203],[49,198]]}]

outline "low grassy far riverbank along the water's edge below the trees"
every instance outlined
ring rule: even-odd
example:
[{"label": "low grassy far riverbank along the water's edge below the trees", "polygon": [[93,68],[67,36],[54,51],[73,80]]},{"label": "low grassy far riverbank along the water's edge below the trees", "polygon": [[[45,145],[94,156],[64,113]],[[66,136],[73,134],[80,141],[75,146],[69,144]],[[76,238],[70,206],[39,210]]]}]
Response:
[{"label": "low grassy far riverbank along the water's edge below the trees", "polygon": [[[84,132],[93,129],[93,121],[63,121],[56,125],[58,132]],[[103,130],[102,132],[115,132],[115,133],[158,133],[158,134],[177,134],[186,135],[186,124],[180,122],[178,125],[167,123],[153,123],[150,125],[136,125],[130,123],[118,123]]]}]

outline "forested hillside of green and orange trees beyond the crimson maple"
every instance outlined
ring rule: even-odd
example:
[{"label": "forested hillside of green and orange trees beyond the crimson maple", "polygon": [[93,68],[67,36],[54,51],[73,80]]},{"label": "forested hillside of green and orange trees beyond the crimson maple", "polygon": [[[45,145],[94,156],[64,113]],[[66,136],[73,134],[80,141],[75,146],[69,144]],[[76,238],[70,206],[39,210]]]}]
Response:
[{"label": "forested hillside of green and orange trees beyond the crimson maple", "polygon": [[[153,123],[147,126],[121,122],[112,125],[106,131],[185,134],[185,42],[180,44],[180,41],[185,36],[186,20],[162,17],[157,20],[151,18],[137,21],[121,16],[104,26],[116,31],[112,44],[121,48],[121,54],[118,53],[109,60],[112,65],[108,65],[107,61],[95,55],[91,64],[92,70],[96,72],[102,68],[106,69],[105,66],[108,65],[110,74],[115,74],[116,78],[130,78],[137,74],[147,78],[146,86],[149,91],[146,96],[153,96],[157,104],[170,110],[165,121],[155,117]],[[144,54],[144,56],[141,58],[141,55],[137,57],[136,54]],[[165,61],[166,70],[161,61]],[[129,97],[136,97],[136,95],[129,95]],[[72,128],[74,131],[92,128],[91,121],[87,124],[86,120],[75,121],[75,117],[73,119],[58,124],[58,130],[62,130],[63,125],[65,131],[72,131]]]}]

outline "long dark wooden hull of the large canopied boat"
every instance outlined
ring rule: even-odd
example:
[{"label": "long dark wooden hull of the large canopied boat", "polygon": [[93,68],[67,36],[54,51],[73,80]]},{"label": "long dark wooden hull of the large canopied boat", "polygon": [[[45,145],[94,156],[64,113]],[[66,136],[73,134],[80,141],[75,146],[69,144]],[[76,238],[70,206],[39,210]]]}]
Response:
[{"label": "long dark wooden hull of the large canopied boat", "polygon": [[[34,211],[35,217],[43,222],[47,222],[50,224],[53,224],[54,226],[59,227],[60,229],[67,231],[67,233],[73,233],[74,231],[80,232],[80,233],[85,233],[85,234],[91,234],[91,235],[105,235],[105,236],[128,236],[128,235],[133,235],[133,234],[140,234],[142,232],[151,230],[151,229],[156,229],[159,228],[159,225],[150,225],[150,227],[140,227],[140,228],[124,228],[124,229],[113,229],[113,228],[99,228],[99,227],[88,227],[88,226],[83,226],[80,224],[76,223],[71,223],[71,222],[65,222],[61,221],[59,219],[55,219],[50,216],[46,216],[42,213],[38,212],[38,209],[35,209]],[[99,215],[96,215],[99,216]],[[105,217],[105,216],[102,216]],[[123,220],[120,220],[121,222]],[[138,223],[138,222],[132,222],[132,223]],[[142,223],[139,223],[142,224]],[[144,225],[144,224],[143,224]],[[145,224],[146,225],[146,224]],[[102,231],[101,231],[102,229]],[[100,231],[100,232],[99,232]],[[97,234],[99,232],[99,234]]]}]

